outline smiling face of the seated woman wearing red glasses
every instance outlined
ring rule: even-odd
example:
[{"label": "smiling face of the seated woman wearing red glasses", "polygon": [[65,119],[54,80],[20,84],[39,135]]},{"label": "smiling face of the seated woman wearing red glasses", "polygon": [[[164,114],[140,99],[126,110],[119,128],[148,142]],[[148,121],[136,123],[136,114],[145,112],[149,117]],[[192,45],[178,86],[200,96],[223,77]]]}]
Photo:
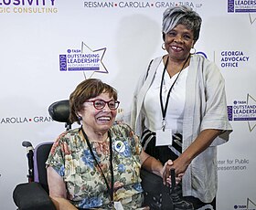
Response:
[{"label": "smiling face of the seated woman wearing red glasses", "polygon": [[[107,92],[103,92],[99,96],[91,98],[91,100],[114,101]],[[107,103],[102,110],[97,110],[94,108],[93,102],[89,101],[85,101],[83,103],[83,110],[79,111],[83,129],[89,135],[90,133],[106,133],[112,127],[116,114],[117,110],[110,110]]]}]

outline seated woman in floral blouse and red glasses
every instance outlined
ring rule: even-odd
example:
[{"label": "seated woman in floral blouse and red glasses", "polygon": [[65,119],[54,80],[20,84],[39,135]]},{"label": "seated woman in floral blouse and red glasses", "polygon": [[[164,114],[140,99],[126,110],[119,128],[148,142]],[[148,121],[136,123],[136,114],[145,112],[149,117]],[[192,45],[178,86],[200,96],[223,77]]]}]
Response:
[{"label": "seated woman in floral blouse and red glasses", "polygon": [[[60,134],[47,161],[49,196],[55,207],[19,207],[20,210],[138,209],[143,206],[141,184],[156,194],[164,188],[170,190],[160,178],[165,167],[142,150],[128,125],[114,121],[118,105],[116,90],[101,80],[86,79],[78,85],[69,98],[69,124],[78,121],[82,126]],[[165,166],[171,164],[167,162]],[[192,209],[175,194],[180,178],[175,179],[172,173],[172,194],[163,197],[167,203],[144,201],[144,205],[153,210],[170,210],[175,209],[175,203],[180,207],[176,209]],[[170,179],[167,182],[170,184]],[[16,189],[17,206],[22,205],[16,198],[18,193]]]}]

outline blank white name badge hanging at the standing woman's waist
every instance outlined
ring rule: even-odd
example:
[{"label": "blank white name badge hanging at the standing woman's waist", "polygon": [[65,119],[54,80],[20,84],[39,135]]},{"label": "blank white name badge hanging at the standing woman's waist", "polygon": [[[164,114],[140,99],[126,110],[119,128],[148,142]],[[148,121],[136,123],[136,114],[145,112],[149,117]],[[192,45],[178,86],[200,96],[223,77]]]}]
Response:
[{"label": "blank white name badge hanging at the standing woman's waist", "polygon": [[172,145],[172,129],[159,129],[156,130],[155,146],[169,146]]}]

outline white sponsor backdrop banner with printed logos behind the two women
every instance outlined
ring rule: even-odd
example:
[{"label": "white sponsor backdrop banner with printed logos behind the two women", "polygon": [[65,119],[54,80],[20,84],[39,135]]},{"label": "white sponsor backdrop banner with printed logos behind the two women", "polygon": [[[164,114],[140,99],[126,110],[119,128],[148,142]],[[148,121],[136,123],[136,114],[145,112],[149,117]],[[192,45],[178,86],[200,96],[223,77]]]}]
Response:
[{"label": "white sponsor backdrop banner with printed logos behind the two women", "polygon": [[119,118],[133,89],[161,48],[162,14],[188,5],[203,19],[197,53],[226,79],[230,141],[219,146],[218,209],[256,209],[256,1],[0,0],[0,204],[27,182],[23,141],[51,142],[64,123],[48,106],[66,100],[85,78],[118,89]]}]

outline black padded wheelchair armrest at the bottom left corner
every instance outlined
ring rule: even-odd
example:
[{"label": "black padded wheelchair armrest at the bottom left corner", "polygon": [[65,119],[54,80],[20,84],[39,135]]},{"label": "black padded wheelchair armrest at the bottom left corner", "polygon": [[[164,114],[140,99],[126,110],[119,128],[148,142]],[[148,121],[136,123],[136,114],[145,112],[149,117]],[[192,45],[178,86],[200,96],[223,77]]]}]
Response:
[{"label": "black padded wheelchair armrest at the bottom left corner", "polygon": [[19,210],[55,210],[48,193],[41,184],[18,184],[13,192],[13,199]]}]

